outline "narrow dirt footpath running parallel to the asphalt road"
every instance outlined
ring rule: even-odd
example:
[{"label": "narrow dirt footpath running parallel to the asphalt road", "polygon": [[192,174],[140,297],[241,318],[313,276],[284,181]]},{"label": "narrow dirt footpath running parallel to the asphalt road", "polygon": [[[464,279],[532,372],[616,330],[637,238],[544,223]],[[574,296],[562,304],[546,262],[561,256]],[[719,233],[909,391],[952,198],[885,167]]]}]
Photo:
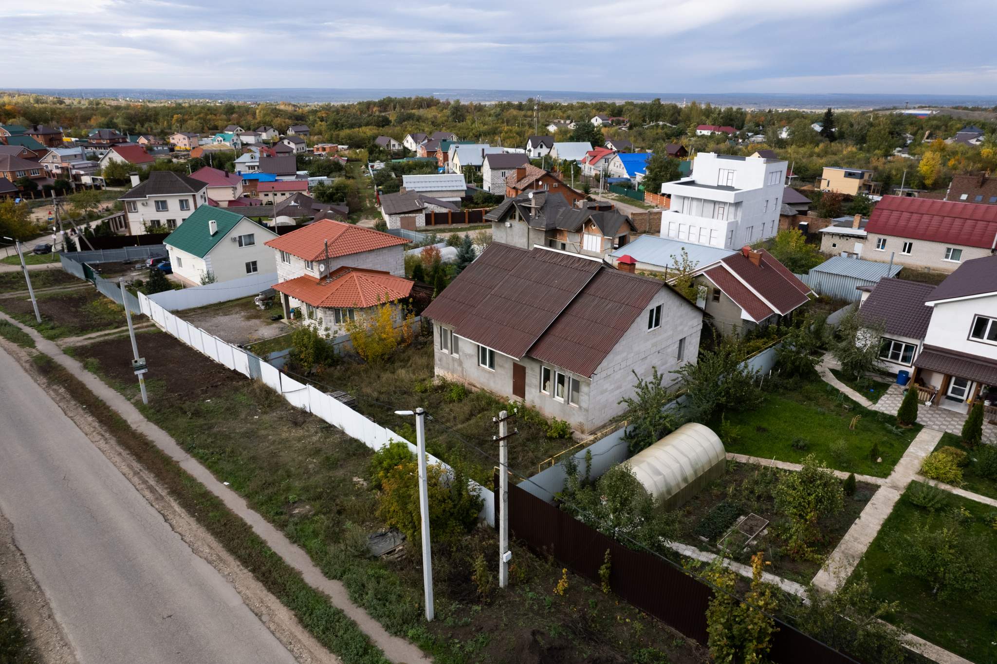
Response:
[{"label": "narrow dirt footpath running parallel to the asphalt road", "polygon": [[405,664],[429,664],[433,661],[418,646],[405,639],[389,634],[381,623],[372,618],[362,607],[357,606],[350,600],[349,593],[341,581],[327,578],[315,566],[304,549],[292,543],[283,532],[270,524],[257,512],[253,511],[246,504],[245,499],[222,485],[221,482],[211,475],[210,471],[187,455],[176,441],[164,430],[147,420],[125,397],[105,384],[97,376],[84,369],[83,365],[63,353],[62,349],[55,343],[45,339],[34,329],[21,325],[5,314],[0,314],[0,319],[7,320],[27,332],[35,340],[39,351],[65,367],[71,374],[82,381],[91,392],[121,415],[136,431],[147,436],[156,447],[160,448],[166,455],[176,461],[180,468],[189,473],[209,492],[221,498],[225,505],[245,520],[253,529],[253,532],[259,535],[277,555],[283,558],[287,564],[300,571],[306,583],[324,592],[334,606],[341,609],[343,613],[356,622],[370,640],[384,651],[385,657],[392,662]]}]

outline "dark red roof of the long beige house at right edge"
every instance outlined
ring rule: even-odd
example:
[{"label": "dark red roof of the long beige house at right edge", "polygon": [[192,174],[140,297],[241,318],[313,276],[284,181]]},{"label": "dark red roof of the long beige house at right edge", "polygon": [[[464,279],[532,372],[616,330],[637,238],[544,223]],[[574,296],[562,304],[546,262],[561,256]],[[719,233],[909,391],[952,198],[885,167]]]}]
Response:
[{"label": "dark red roof of the long beige house at right edge", "polygon": [[865,232],[989,249],[997,237],[997,205],[883,196]]}]

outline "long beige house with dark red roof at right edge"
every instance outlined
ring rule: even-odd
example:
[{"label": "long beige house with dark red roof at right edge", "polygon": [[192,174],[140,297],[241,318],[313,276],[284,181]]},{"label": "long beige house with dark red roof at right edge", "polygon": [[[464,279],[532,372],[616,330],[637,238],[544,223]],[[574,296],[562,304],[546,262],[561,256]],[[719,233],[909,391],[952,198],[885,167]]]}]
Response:
[{"label": "long beige house with dark red roof at right edge", "polygon": [[988,256],[997,243],[997,206],[883,196],[865,226],[863,257],[949,272]]}]

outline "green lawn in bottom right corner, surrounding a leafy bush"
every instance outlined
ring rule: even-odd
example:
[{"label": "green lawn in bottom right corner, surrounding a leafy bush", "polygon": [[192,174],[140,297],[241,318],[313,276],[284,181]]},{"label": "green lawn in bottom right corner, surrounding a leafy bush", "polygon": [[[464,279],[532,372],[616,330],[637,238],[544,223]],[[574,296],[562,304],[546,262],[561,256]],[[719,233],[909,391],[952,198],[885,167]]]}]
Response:
[{"label": "green lawn in bottom right corner, surrounding a leafy bush", "polygon": [[[959,593],[942,598],[932,594],[927,582],[902,574],[895,568],[897,548],[902,546],[898,537],[929,516],[927,510],[906,498],[916,484],[913,483],[893,507],[859,562],[856,573],[864,571],[867,574],[877,598],[900,603],[896,615],[887,616],[891,622],[901,623],[917,636],[974,662],[997,662],[997,646],[993,645],[997,641],[997,597],[992,578],[983,580],[976,596]],[[947,504],[942,509],[962,507],[970,512],[969,522],[959,527],[981,544],[984,555],[989,558],[988,566],[993,569],[997,562],[997,530],[989,519],[993,518],[994,508],[951,494],[947,496]],[[940,527],[942,515],[934,514],[931,523],[932,528]]]}]

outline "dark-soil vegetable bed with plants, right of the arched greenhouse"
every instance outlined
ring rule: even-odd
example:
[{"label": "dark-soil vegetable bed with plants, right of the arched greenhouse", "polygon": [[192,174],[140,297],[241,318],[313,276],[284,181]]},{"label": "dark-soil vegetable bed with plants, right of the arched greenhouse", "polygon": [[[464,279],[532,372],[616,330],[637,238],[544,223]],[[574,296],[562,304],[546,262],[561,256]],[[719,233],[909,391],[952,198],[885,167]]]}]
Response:
[{"label": "dark-soil vegetable bed with plants, right of the arched greenhouse", "polygon": [[[821,560],[794,560],[783,553],[784,541],[777,534],[784,524],[785,518],[776,508],[772,490],[778,478],[792,471],[778,471],[769,467],[753,464],[727,463],[727,473],[720,480],[710,484],[679,508],[681,514],[680,541],[691,544],[704,551],[727,555],[740,562],[749,563],[752,554],[764,551],[766,560],[772,562],[768,569],[777,576],[782,576],[799,583],[807,584],[821,568]],[[865,503],[875,494],[875,485],[857,483],[853,496],[844,497],[844,508],[825,519],[822,523],[823,539],[814,546],[820,556],[827,556],[834,550],[837,543],[847,532],[851,524],[858,518]],[[727,546],[722,550],[718,541],[724,537],[742,516],[755,514],[768,521],[763,533],[751,541],[747,551],[734,550],[735,546]],[[748,519],[743,522],[746,527],[741,531],[754,532],[757,528],[748,527]],[[759,525],[764,525],[759,523]],[[728,536],[725,544],[729,544],[733,536],[739,535],[739,529]],[[708,541],[703,541],[705,537]],[[747,539],[740,532],[742,540]]]}]

